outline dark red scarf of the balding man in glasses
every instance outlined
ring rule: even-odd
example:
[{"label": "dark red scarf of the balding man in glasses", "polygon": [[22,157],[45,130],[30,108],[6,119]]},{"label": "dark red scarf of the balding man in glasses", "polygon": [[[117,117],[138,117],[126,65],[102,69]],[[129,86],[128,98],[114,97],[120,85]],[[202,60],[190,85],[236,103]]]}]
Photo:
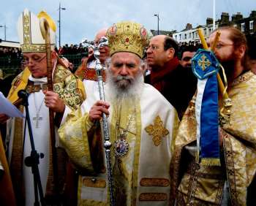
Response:
[{"label": "dark red scarf of the balding man in glasses", "polygon": [[165,87],[164,80],[166,76],[173,72],[173,70],[177,68],[178,64],[178,57],[174,57],[157,70],[151,70],[151,85],[153,85],[154,88],[157,88],[158,91],[162,92]]}]

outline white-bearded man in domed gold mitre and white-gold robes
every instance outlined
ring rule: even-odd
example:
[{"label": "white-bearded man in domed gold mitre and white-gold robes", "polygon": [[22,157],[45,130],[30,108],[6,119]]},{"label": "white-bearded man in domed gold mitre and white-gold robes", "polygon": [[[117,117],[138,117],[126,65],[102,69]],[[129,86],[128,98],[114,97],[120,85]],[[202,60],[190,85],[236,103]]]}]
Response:
[{"label": "white-bearded man in domed gold mitre and white-gold robes", "polygon": [[[80,168],[78,205],[109,205],[105,152],[99,135],[108,115],[116,205],[169,205],[171,146],[178,117],[173,106],[143,83],[143,52],[150,35],[140,23],[124,21],[107,31],[106,101],[65,111],[59,129],[73,164]],[[97,94],[99,99],[99,94]]]}]

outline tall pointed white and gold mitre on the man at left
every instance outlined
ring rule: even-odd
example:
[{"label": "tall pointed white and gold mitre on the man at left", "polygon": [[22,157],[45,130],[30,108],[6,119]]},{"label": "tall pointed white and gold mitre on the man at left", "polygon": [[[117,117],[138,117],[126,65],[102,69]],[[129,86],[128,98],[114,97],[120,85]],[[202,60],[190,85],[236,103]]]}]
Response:
[{"label": "tall pointed white and gold mitre on the man at left", "polygon": [[45,18],[50,27],[50,48],[55,47],[56,25],[52,18],[46,12],[39,12],[38,15],[24,9],[23,13],[18,18],[17,28],[20,39],[20,47],[23,52],[45,52],[45,39],[39,26],[39,19]]}]

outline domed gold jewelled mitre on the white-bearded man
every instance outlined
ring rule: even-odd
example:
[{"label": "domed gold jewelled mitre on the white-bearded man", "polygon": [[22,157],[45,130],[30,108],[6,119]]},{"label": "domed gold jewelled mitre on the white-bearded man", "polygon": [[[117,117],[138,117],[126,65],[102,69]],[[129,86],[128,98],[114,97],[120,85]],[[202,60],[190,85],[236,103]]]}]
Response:
[{"label": "domed gold jewelled mitre on the white-bearded man", "polygon": [[114,23],[107,31],[110,56],[117,52],[135,53],[143,58],[149,34],[140,23],[122,21]]}]

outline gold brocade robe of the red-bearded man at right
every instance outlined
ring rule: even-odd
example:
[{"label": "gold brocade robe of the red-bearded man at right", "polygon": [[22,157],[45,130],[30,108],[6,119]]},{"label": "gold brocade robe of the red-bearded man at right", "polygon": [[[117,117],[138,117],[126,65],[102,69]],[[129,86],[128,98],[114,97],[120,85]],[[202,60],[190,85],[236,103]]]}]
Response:
[{"label": "gold brocade robe of the red-bearded man at right", "polygon": [[231,204],[246,205],[246,188],[256,172],[255,91],[256,76],[252,72],[238,77],[230,87],[230,124],[225,124],[219,133],[224,156],[221,167],[192,164],[195,156],[191,159],[184,148],[196,140],[195,106],[189,105],[178,129],[170,168],[174,180],[170,195],[177,205],[220,205],[225,180],[229,183]]}]

